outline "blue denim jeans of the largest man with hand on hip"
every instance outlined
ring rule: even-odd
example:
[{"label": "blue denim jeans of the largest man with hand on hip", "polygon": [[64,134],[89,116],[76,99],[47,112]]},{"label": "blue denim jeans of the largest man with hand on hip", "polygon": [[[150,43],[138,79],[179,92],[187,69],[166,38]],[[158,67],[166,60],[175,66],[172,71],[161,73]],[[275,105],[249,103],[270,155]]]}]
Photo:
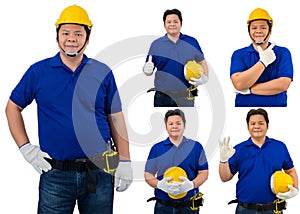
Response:
[{"label": "blue denim jeans of the largest man with hand on hip", "polygon": [[113,177],[101,170],[92,170],[96,193],[87,189],[87,172],[53,169],[43,173],[39,186],[39,214],[72,214],[77,203],[82,214],[113,213]]}]

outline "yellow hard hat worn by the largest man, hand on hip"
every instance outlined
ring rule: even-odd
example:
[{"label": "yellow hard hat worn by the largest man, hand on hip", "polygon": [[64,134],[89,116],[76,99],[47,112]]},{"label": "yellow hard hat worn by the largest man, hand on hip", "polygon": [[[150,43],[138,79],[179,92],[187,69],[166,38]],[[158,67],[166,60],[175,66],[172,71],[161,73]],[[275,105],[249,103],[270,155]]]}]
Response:
[{"label": "yellow hard hat worn by the largest man, hand on hip", "polygon": [[58,27],[60,24],[80,24],[86,25],[89,28],[93,26],[91,20],[85,9],[76,4],[66,7],[60,14],[55,25]]}]

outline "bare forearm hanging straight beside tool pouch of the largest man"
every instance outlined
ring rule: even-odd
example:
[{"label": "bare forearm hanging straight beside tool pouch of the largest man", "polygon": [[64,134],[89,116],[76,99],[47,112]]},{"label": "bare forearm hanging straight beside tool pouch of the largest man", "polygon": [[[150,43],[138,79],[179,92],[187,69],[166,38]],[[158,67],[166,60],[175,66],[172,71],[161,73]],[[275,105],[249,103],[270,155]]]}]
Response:
[{"label": "bare forearm hanging straight beside tool pouch of the largest man", "polygon": [[116,147],[120,155],[120,160],[130,160],[128,134],[123,113],[118,112],[109,115],[108,121],[111,128],[112,138],[116,143]]}]

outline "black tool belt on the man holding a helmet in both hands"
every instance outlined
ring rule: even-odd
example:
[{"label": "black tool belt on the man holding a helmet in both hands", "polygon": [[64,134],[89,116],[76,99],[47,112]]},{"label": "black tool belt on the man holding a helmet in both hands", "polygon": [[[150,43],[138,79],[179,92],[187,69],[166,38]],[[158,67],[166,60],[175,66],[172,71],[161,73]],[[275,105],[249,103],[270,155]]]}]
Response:
[{"label": "black tool belt on the man holding a helmet in both hands", "polygon": [[203,206],[203,194],[197,193],[195,196],[191,197],[190,199],[186,199],[184,201],[165,201],[156,197],[149,198],[147,202],[149,201],[158,201],[159,203],[165,205],[165,206],[171,206],[175,208],[181,208],[181,207],[190,207],[192,210],[198,210],[200,206]]}]

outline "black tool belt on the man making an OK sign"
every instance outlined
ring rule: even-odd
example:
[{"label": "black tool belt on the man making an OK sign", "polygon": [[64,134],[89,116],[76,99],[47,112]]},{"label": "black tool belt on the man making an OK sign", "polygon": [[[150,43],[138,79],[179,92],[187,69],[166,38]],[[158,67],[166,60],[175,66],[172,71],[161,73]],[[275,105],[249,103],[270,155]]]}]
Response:
[{"label": "black tool belt on the man making an OK sign", "polygon": [[276,199],[266,204],[248,204],[235,199],[230,201],[228,204],[232,204],[232,203],[238,203],[239,205],[241,205],[246,209],[256,210],[256,211],[273,210],[274,213],[282,213],[282,211],[286,209],[286,201],[280,199]]}]

